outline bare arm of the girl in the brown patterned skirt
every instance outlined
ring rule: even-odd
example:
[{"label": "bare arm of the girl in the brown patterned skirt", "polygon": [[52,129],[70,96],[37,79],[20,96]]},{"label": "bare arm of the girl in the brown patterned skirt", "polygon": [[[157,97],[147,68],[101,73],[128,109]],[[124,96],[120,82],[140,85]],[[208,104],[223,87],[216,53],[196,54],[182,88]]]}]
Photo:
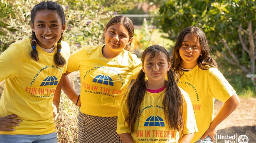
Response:
[{"label": "bare arm of the girl in the brown patterned skirt", "polygon": [[80,98],[77,102],[78,99],[78,94],[75,92],[75,89],[73,89],[70,80],[68,78],[68,74],[70,74],[70,72],[66,72],[64,74],[63,77],[63,84],[62,84],[62,90],[63,92],[65,92],[65,94],[68,96],[68,98],[73,102],[73,103],[77,103],[77,106],[81,106],[81,102],[80,102]]}]

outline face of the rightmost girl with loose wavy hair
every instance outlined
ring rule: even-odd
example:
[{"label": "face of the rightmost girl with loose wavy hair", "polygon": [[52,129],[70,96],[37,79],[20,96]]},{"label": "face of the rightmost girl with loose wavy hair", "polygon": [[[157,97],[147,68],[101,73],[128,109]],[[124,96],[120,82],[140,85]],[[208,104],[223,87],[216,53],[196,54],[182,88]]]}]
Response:
[{"label": "face of the rightmost girl with loose wavy hair", "polygon": [[201,54],[202,48],[199,39],[195,34],[188,33],[184,36],[179,55],[182,58],[181,66],[185,69],[192,69],[197,65],[197,58]]}]

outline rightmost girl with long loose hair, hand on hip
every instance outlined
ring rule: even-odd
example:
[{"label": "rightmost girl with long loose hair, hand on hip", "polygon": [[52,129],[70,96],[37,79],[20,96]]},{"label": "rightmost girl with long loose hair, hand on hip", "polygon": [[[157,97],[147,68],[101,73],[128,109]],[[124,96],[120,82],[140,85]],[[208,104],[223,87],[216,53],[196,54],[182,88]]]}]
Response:
[{"label": "rightmost girl with long loose hair, hand on hip", "polygon": [[[217,63],[210,56],[206,35],[199,27],[181,31],[174,45],[171,68],[179,74],[179,87],[190,96],[197,121],[198,132],[192,142],[214,141],[216,127],[236,109],[240,103]],[[214,98],[224,105],[213,116]],[[210,138],[209,138],[210,137]]]}]

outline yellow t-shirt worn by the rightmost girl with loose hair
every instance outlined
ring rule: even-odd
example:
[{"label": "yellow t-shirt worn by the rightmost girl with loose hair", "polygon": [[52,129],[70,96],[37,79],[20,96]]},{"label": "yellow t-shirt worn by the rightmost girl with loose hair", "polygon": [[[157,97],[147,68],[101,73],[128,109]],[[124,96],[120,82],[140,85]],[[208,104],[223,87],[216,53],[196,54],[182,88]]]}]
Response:
[{"label": "yellow t-shirt worn by the rightmost girl with loose hair", "polygon": [[198,132],[192,140],[194,143],[213,120],[214,98],[226,102],[236,91],[215,67],[203,70],[196,66],[191,71],[184,71],[178,85],[189,94],[195,112]]}]

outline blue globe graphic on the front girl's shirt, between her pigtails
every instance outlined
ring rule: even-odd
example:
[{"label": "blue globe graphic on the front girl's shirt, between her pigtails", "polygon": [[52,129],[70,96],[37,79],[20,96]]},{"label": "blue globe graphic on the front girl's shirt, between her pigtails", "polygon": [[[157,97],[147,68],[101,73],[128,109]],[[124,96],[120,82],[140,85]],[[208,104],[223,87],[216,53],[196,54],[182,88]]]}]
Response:
[{"label": "blue globe graphic on the front girl's shirt, between her pigtails", "polygon": [[144,123],[145,127],[164,127],[164,121],[159,116],[150,116],[147,118],[147,120]]}]

